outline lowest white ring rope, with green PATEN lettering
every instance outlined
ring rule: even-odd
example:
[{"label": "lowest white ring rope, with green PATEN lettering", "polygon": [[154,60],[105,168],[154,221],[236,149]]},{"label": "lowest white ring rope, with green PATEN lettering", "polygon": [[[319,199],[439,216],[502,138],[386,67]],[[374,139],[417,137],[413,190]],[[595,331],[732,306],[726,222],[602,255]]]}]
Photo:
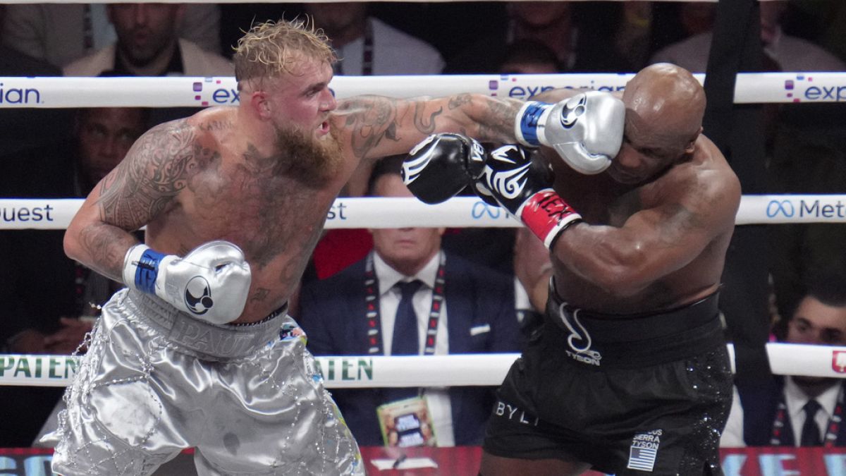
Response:
[{"label": "lowest white ring rope, with green PATEN lettering", "polygon": [[[766,344],[773,374],[846,378],[846,347]],[[728,344],[734,371],[734,348]],[[499,385],[519,354],[315,357],[328,388]],[[0,354],[0,385],[61,387],[75,357]]]}]

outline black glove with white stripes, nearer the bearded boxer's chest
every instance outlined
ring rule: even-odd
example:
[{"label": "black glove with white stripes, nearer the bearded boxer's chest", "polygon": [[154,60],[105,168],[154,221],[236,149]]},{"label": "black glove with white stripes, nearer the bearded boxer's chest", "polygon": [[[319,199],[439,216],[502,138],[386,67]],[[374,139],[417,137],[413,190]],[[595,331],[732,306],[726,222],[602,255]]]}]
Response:
[{"label": "black glove with white stripes, nearer the bearded boxer's chest", "polygon": [[402,176],[411,193],[431,205],[474,185],[484,168],[485,149],[479,142],[460,134],[433,134],[411,149]]}]

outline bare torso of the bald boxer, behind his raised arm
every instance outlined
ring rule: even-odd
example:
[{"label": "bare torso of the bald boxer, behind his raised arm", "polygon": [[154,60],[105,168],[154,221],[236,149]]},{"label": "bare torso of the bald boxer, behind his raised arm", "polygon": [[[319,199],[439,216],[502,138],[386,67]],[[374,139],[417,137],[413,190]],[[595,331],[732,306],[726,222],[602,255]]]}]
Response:
[{"label": "bare torso of the bald boxer, behind his raised arm", "polygon": [[[679,196],[696,194],[700,187],[718,185],[720,180],[727,184],[737,180],[722,154],[705,138],[700,139],[692,158],[639,185],[619,184],[607,173],[580,175],[554,159],[552,164],[556,174],[556,191],[582,215],[586,223],[618,228],[641,210],[678,207],[678,213],[686,213],[678,204]],[[726,195],[730,194],[727,192]],[[727,199],[731,200],[730,197]],[[733,233],[733,216],[722,220],[724,225],[718,230],[697,229],[695,222],[693,215],[688,229],[674,231],[691,237],[706,234],[709,236],[707,246],[698,256],[687,263],[679,263],[677,269],[632,296],[615,296],[581,278],[553,257],[559,295],[575,307],[600,313],[648,313],[695,302],[710,295],[717,291],[720,283],[725,253]],[[665,251],[656,249],[654,252]]]}]

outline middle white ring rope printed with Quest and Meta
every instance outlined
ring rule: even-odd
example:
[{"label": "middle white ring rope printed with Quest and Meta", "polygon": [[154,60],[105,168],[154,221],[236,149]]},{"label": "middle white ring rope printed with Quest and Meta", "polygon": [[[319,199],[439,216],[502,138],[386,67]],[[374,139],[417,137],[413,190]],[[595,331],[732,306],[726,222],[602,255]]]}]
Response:
[{"label": "middle white ring rope printed with Quest and Meta", "polygon": [[[0,230],[64,230],[81,198],[0,199]],[[846,195],[744,195],[736,224],[846,223]],[[416,198],[338,198],[326,228],[514,228],[522,226],[503,208],[471,196],[439,205]]]}]

